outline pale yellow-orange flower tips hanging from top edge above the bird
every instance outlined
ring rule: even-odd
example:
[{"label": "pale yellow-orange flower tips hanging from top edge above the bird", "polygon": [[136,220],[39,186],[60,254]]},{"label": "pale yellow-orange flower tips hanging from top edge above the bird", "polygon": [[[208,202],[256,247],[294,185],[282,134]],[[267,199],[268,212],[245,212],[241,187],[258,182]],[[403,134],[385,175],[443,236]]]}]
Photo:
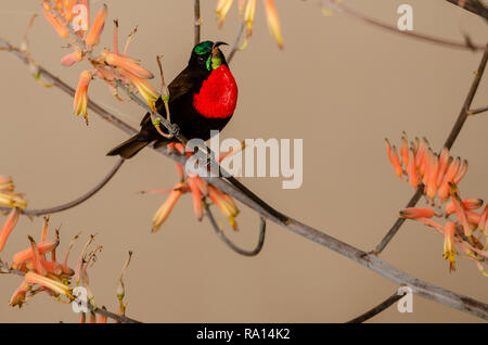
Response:
[{"label": "pale yellow-orange flower tips hanging from top edge above the bird", "polygon": [[[254,17],[256,15],[256,1],[257,0],[239,0],[239,14],[245,22],[247,28],[247,38],[253,34]],[[232,8],[234,0],[219,0],[217,3],[216,13],[219,17],[219,25],[222,26],[226,21],[227,14]],[[280,17],[278,16],[277,7],[274,0],[264,0],[266,9],[266,17],[268,21],[268,27],[271,35],[274,37],[278,46],[283,48],[283,36],[281,35]]]}]

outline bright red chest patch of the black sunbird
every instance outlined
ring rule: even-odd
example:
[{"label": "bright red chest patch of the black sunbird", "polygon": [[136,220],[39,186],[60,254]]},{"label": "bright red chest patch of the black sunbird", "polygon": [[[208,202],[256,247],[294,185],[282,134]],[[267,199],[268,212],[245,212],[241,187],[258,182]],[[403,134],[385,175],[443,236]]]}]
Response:
[{"label": "bright red chest patch of the black sunbird", "polygon": [[207,118],[226,118],[234,113],[237,103],[237,85],[226,65],[214,69],[193,94],[193,106]]}]

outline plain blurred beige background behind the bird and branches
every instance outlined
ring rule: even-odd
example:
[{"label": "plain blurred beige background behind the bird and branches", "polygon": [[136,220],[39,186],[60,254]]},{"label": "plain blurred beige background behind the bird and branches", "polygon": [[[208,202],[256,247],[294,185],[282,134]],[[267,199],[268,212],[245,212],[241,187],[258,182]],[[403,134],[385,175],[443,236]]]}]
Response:
[{"label": "plain blurred beige background behind the bird and branches", "polygon": [[[166,78],[185,65],[193,42],[193,1],[105,1],[110,22],[103,43],[112,46],[111,21],[120,21],[120,40],[139,25],[130,54],[156,69],[164,54]],[[480,18],[442,0],[347,0],[349,7],[396,24],[397,8],[410,3],[414,29],[462,40],[468,33],[484,44],[488,27]],[[101,1],[94,1],[98,9]],[[216,1],[202,1],[203,39],[233,42],[234,9],[223,29],[215,18]],[[249,47],[231,68],[240,88],[234,118],[222,136],[304,138],[304,184],[281,189],[281,179],[243,181],[278,209],[362,250],[372,250],[412,194],[389,166],[385,137],[398,143],[402,130],[425,136],[437,150],[445,141],[476,69],[480,54],[452,50],[385,33],[335,14],[324,17],[316,1],[277,1],[285,49],[268,34],[259,3]],[[40,1],[2,1],[0,36],[18,43]],[[82,66],[66,68],[60,58],[66,42],[40,17],[30,36],[37,61],[76,86]],[[486,105],[487,77],[475,106]],[[154,86],[158,86],[155,79]],[[14,177],[31,207],[48,207],[77,197],[114,165],[105,153],[127,137],[91,114],[91,124],[72,115],[73,100],[34,81],[16,58],[0,53],[0,174]],[[114,100],[102,82],[90,89],[93,100],[136,126],[142,112]],[[463,195],[488,199],[488,114],[471,118],[452,154],[470,161]],[[128,316],[152,322],[342,322],[389,296],[396,285],[310,241],[269,223],[262,253],[247,258],[231,252],[208,221],[198,223],[185,195],[169,220],[151,233],[151,219],[164,195],[139,195],[151,188],[170,188],[172,162],[145,150],[126,163],[99,194],[75,209],[52,216],[61,227],[62,250],[77,232],[98,233],[104,246],[90,280],[99,305],[116,309],[115,288],[127,251],[134,252],[127,271]],[[251,247],[258,219],[246,207],[241,231],[231,234]],[[1,217],[0,222],[4,217]],[[22,218],[1,257],[38,237],[41,218]],[[459,260],[448,272],[442,238],[419,223],[407,222],[382,257],[428,282],[488,302],[488,280],[476,267]],[[0,277],[0,322],[77,322],[70,308],[46,295],[22,310],[10,308],[17,277]],[[396,307],[372,322],[472,322],[466,314],[414,298],[413,314]]]}]

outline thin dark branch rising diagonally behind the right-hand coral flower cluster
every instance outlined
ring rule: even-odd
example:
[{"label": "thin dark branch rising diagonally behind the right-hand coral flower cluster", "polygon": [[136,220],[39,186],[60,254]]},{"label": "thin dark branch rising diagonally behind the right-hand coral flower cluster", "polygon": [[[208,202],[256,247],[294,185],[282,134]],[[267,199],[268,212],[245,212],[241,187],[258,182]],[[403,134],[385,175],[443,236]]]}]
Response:
[{"label": "thin dark branch rising diagonally behind the right-hand coral flower cluster", "polygon": [[[487,49],[485,50],[485,53],[483,54],[481,61],[479,62],[478,69],[475,73],[475,77],[473,79],[473,82],[471,84],[470,91],[467,92],[466,99],[464,100],[463,106],[461,107],[461,111],[458,115],[458,119],[455,120],[454,125],[452,126],[452,129],[446,139],[445,146],[448,149],[451,149],[454,144],[455,139],[458,138],[459,133],[461,132],[461,129],[463,128],[464,124],[466,123],[467,117],[470,116],[470,107],[473,103],[473,99],[476,94],[476,91],[478,90],[479,81],[481,80],[483,73],[485,72],[485,67],[488,61],[488,44],[486,46]],[[413,207],[416,205],[416,203],[420,201],[422,194],[423,194],[424,187],[421,184],[415,194],[410,199],[409,203],[407,204],[407,207]],[[383,250],[388,245],[389,241],[395,237],[395,234],[400,230],[401,226],[404,222],[404,218],[398,218],[391,229],[386,233],[386,235],[382,239],[380,244],[375,247],[374,252],[376,254],[380,254],[383,252]]]}]

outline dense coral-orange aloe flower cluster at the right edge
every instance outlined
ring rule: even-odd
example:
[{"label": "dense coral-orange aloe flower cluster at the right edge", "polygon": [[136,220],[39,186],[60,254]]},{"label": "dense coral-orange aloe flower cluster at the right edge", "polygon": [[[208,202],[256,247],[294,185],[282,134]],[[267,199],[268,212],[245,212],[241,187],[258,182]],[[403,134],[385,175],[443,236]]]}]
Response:
[{"label": "dense coral-orange aloe flower cluster at the right edge", "polygon": [[488,277],[484,267],[488,259],[488,205],[481,209],[483,200],[462,199],[458,190],[467,161],[452,157],[448,148],[434,152],[426,139],[415,138],[409,144],[406,133],[399,150],[386,139],[386,152],[395,174],[413,188],[422,188],[428,205],[406,208],[400,217],[421,221],[444,235],[444,257],[450,271],[459,252]]}]

